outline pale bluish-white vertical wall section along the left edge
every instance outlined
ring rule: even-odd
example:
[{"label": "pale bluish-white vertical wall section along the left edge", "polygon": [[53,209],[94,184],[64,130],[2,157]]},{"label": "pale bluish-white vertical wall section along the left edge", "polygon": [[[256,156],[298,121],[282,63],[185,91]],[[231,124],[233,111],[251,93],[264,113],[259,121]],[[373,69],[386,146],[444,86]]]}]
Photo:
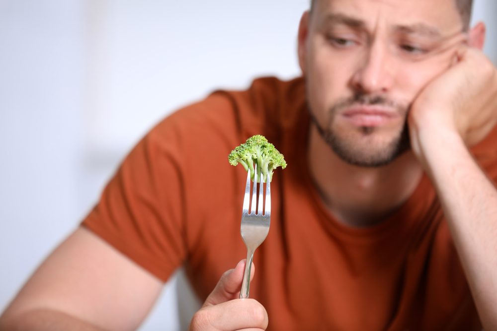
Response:
[{"label": "pale bluish-white vertical wall section along the left edge", "polygon": [[83,214],[83,19],[78,1],[0,1],[0,310]]}]

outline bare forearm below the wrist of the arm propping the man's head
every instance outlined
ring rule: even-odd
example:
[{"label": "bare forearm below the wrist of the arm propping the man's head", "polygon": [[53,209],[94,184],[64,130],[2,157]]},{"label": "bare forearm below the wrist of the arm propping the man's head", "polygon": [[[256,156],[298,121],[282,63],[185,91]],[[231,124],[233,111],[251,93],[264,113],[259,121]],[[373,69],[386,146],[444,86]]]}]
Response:
[{"label": "bare forearm below the wrist of the arm propping the man's head", "polygon": [[482,323],[497,330],[497,190],[457,132],[419,143]]}]

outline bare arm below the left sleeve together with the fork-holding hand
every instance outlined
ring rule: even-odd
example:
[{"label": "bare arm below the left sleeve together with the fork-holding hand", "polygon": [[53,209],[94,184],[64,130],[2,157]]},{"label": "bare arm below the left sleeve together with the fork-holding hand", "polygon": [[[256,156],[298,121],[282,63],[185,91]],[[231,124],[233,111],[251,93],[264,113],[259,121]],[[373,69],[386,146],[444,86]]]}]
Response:
[{"label": "bare arm below the left sleeve together with the fork-holding hand", "polygon": [[[188,330],[266,329],[264,307],[253,299],[238,299],[244,269],[242,261],[225,272]],[[80,228],[24,285],[0,317],[0,331],[135,330],[162,285],[105,241]]]}]

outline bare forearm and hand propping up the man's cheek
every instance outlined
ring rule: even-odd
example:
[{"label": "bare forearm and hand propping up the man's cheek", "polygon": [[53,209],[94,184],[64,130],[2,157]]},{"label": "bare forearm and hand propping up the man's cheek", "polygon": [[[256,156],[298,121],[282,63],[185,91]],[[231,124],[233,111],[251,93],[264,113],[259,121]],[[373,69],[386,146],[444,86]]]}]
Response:
[{"label": "bare forearm and hand propping up the man's cheek", "polygon": [[413,151],[440,199],[473,298],[487,331],[497,330],[497,190],[467,145],[497,122],[497,71],[478,50],[419,95],[409,126]]}]

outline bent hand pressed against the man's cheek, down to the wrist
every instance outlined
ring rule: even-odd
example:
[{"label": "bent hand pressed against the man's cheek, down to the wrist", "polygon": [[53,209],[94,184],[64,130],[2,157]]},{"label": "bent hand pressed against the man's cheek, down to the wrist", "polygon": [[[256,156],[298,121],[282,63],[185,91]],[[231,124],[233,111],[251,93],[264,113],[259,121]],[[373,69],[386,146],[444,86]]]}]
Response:
[{"label": "bent hand pressed against the man's cheek, down to the wrist", "polygon": [[[409,129],[413,151],[425,153],[439,135],[458,134],[467,146],[483,140],[497,123],[497,70],[478,49],[461,45],[454,64],[429,83],[413,103]],[[429,145],[429,146],[428,146]]]}]

